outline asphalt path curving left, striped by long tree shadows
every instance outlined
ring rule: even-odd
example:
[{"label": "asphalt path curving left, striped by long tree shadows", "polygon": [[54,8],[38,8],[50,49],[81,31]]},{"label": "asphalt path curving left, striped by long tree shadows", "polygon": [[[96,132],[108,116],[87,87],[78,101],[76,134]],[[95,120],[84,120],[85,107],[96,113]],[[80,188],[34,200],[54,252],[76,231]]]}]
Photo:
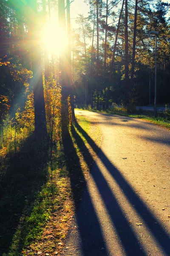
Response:
[{"label": "asphalt path curving left, striped by long tree shadows", "polygon": [[99,124],[102,144],[62,255],[170,256],[170,132],[141,119],[75,113]]}]

